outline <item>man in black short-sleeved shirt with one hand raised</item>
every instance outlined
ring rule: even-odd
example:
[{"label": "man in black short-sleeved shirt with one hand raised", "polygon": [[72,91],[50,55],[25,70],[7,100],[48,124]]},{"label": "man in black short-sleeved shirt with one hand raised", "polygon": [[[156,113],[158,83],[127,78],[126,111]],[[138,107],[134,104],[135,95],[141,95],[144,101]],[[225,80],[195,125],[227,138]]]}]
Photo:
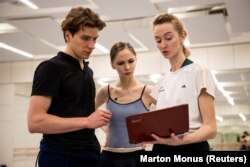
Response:
[{"label": "man in black short-sleeved shirt with one hand raised", "polygon": [[93,72],[85,60],[105,26],[92,10],[72,8],[61,25],[65,51],[42,62],[35,71],[28,128],[43,134],[39,167],[92,167],[97,163],[100,145],[94,129],[107,125],[111,113],[95,111]]}]

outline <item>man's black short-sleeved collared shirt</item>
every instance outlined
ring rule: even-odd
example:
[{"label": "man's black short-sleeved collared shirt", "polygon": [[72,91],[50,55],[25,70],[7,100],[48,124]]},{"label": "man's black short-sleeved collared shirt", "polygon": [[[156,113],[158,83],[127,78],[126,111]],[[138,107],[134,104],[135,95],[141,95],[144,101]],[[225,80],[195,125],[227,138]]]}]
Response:
[{"label": "man's black short-sleeved collared shirt", "polygon": [[[95,110],[93,71],[84,62],[63,52],[42,62],[36,69],[31,95],[51,96],[49,114],[59,117],[87,117]],[[62,134],[43,134],[41,148],[100,151],[94,129]]]}]

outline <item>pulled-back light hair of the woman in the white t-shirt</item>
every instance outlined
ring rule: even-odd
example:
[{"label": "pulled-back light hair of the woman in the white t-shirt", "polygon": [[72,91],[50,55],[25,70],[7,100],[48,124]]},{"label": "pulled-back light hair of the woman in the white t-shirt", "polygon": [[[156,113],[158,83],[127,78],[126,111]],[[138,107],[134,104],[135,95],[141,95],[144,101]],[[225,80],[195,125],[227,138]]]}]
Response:
[{"label": "pulled-back light hair of the woman in the white t-shirt", "polygon": [[[173,14],[161,13],[157,15],[153,20],[153,27],[164,23],[172,23],[174,25],[175,30],[178,32],[180,36],[182,35],[183,32],[185,32],[182,22],[178,17],[176,17]],[[184,54],[186,55],[186,57],[188,57],[190,55],[190,51],[184,45],[182,45],[182,48]]]}]

